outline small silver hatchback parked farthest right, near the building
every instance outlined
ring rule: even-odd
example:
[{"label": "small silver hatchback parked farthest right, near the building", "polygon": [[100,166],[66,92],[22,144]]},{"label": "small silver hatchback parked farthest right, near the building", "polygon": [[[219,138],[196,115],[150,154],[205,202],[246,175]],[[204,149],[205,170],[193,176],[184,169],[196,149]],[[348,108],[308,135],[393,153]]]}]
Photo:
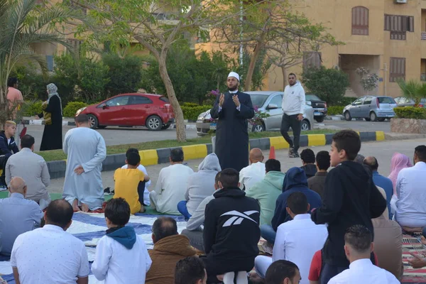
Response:
[{"label": "small silver hatchback parked farthest right, near the building", "polygon": [[397,104],[392,97],[364,96],[344,107],[343,115],[347,121],[353,118],[366,119],[366,121],[384,121],[395,116],[393,108],[396,106]]}]

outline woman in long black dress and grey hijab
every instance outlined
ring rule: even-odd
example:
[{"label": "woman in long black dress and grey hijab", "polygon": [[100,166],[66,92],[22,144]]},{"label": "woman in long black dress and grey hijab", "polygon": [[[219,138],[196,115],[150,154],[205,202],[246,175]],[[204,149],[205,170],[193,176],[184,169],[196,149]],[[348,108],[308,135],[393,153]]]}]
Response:
[{"label": "woman in long black dress and grey hijab", "polygon": [[62,102],[55,84],[48,84],[48,100],[43,104],[43,112],[36,116],[45,118],[45,129],[40,151],[62,149]]}]

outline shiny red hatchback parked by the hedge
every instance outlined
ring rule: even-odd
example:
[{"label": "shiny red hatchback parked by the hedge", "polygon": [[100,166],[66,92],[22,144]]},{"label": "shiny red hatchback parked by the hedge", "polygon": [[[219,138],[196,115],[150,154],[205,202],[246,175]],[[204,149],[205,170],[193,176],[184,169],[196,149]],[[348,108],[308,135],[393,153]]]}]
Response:
[{"label": "shiny red hatchback parked by the hedge", "polygon": [[119,94],[79,109],[75,116],[87,114],[92,129],[107,126],[146,126],[149,130],[168,129],[175,121],[167,97],[158,94]]}]

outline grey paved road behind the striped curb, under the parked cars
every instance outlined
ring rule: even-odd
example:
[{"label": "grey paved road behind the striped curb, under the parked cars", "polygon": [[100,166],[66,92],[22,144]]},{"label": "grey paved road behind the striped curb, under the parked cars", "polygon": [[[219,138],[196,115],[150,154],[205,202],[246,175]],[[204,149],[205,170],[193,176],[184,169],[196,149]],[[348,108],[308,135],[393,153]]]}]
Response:
[{"label": "grey paved road behind the striped curb, under the parked cars", "polygon": [[[27,133],[35,138],[35,151],[40,149],[41,138],[43,136],[44,126],[28,125]],[[74,128],[75,126],[63,126],[62,136]],[[322,124],[315,124],[315,129],[354,129],[358,131],[390,131],[391,124],[389,122],[367,122],[367,121],[324,121]],[[107,146],[121,145],[129,143],[141,143],[148,141],[160,141],[176,138],[175,129],[167,129],[163,131],[148,131],[144,128],[122,128],[107,127],[107,129],[98,129],[99,133],[104,136]],[[196,138],[195,129],[187,129],[187,138]]]}]

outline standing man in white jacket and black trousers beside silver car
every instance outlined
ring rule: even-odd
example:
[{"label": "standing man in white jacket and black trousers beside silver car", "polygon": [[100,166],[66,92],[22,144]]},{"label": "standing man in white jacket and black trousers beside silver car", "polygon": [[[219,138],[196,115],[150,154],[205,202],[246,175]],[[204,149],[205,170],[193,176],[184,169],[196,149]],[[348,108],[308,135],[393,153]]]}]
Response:
[{"label": "standing man in white jacket and black trousers beside silver car", "polygon": [[[302,84],[296,80],[296,75],[288,75],[288,86],[285,87],[283,96],[283,120],[281,121],[281,135],[290,145],[288,156],[299,158],[297,151],[300,147],[300,128],[302,126],[303,112],[305,111],[305,90]],[[294,141],[288,135],[288,131],[293,130]]]}]

